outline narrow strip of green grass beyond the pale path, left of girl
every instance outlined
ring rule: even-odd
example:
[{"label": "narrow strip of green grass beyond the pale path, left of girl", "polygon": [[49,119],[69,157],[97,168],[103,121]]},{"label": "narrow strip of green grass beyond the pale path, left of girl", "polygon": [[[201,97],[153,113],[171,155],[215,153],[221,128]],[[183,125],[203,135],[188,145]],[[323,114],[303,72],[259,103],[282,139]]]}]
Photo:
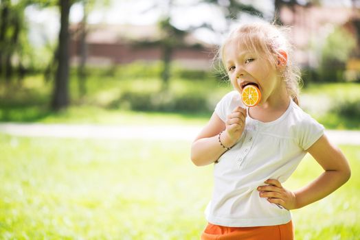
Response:
[{"label": "narrow strip of green grass beyond the pale path, left of girl", "polygon": [[[24,110],[25,111],[25,110]],[[210,112],[140,112],[131,110],[108,110],[96,106],[71,106],[60,112],[44,115],[26,115],[18,110],[10,111],[13,122],[38,123],[93,123],[97,125],[203,125],[210,119]]]}]

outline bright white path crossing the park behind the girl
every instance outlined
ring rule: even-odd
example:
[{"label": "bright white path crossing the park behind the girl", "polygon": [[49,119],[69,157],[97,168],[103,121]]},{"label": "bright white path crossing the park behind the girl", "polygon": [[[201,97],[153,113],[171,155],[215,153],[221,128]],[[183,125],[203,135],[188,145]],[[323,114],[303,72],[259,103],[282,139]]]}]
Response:
[{"label": "bright white path crossing the park behind the girl", "polygon": [[[0,123],[0,132],[14,136],[51,136],[75,139],[150,139],[192,141],[201,130],[196,125],[74,125]],[[335,144],[360,145],[360,131],[326,130]]]}]

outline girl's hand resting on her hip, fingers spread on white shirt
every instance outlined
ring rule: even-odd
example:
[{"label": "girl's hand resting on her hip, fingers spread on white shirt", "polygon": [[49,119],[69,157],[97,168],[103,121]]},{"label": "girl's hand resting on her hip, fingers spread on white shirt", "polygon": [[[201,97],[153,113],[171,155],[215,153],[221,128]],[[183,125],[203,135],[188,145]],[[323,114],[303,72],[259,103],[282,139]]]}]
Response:
[{"label": "girl's hand resting on her hip, fingers spread on white shirt", "polygon": [[267,197],[269,202],[287,210],[296,208],[296,197],[292,191],[284,189],[276,179],[266,180],[265,183],[269,185],[258,187],[260,197]]}]

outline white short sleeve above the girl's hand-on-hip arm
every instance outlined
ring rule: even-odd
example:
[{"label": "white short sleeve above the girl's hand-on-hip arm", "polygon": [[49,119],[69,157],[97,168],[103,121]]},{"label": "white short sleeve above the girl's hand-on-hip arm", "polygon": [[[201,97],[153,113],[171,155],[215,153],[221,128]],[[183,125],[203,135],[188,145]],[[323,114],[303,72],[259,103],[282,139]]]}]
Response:
[{"label": "white short sleeve above the girl's hand-on-hip arm", "polygon": [[300,128],[300,146],[307,150],[313,145],[322,135],[324,135],[324,126],[318,123],[310,115],[301,124]]}]

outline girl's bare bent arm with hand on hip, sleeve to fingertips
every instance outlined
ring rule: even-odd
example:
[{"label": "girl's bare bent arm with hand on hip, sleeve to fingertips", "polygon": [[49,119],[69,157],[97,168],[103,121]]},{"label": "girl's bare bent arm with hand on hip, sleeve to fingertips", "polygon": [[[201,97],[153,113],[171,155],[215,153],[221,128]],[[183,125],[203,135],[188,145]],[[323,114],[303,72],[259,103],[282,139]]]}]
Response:
[{"label": "girl's bare bent arm with hand on hip, sleeve to fingertips", "polygon": [[351,174],[348,160],[325,135],[317,140],[308,152],[322,166],[324,173],[294,192],[284,189],[278,180],[267,180],[265,183],[269,184],[268,186],[258,187],[260,197],[267,197],[269,202],[291,210],[321,200],[348,181]]}]

